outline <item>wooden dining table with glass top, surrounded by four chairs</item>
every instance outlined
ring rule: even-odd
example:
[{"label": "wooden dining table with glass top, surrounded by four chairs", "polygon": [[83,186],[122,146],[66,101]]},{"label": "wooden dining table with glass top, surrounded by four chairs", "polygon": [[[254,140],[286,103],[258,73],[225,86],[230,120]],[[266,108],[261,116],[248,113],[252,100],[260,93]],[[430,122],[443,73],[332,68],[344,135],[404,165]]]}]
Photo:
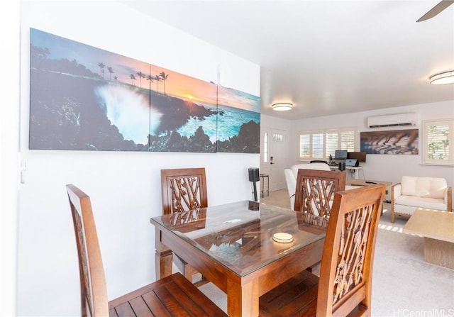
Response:
[{"label": "wooden dining table with glass top, surrounded by four chairs", "polygon": [[[229,316],[258,316],[259,297],[321,260],[328,221],[255,201],[151,218],[156,277],[172,273],[172,251],[227,294]],[[291,233],[293,241],[272,236]]]}]

